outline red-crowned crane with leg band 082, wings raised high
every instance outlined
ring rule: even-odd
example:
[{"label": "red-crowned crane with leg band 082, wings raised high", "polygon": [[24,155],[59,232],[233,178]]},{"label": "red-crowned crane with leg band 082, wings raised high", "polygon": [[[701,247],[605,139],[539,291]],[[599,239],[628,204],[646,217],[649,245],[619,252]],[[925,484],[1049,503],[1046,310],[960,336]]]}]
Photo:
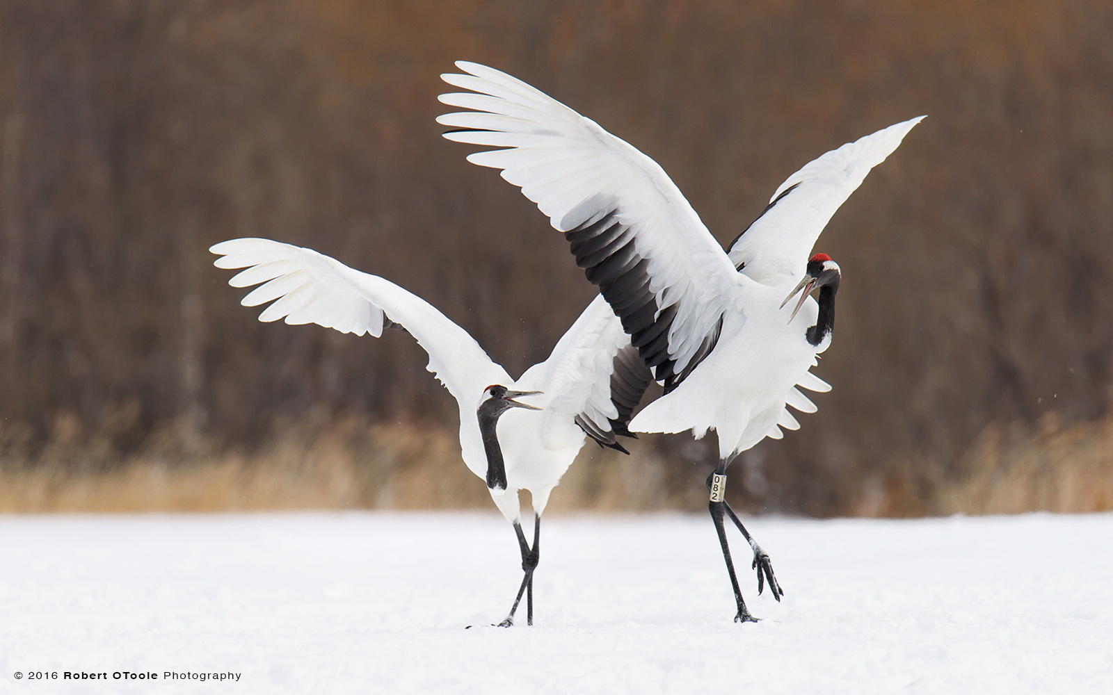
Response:
[{"label": "red-crowned crane with leg band 082, wings raised high", "polygon": [[[809,250],[835,210],[923,117],[844,145],[788,177],[723,251],[652,159],[521,80],[473,62],[456,67],[467,75],[442,79],[470,91],[440,100],[471,110],[439,117],[452,128],[444,137],[502,148],[467,160],[501,169],[564,232],[577,264],[664,387],[630,429],[691,430],[696,438],[718,433],[709,510],[735,592],[735,619],[754,620],[738,588],[723,513],[754,549],[758,593],[766,580],[778,600],[781,589],[769,556],[723,499],[727,466],[765,437],[782,436],[781,427],[799,428],[786,403],[816,409],[797,386],[830,388],[808,370],[830,345],[840,272]],[[796,306],[786,308],[797,292]]]}]

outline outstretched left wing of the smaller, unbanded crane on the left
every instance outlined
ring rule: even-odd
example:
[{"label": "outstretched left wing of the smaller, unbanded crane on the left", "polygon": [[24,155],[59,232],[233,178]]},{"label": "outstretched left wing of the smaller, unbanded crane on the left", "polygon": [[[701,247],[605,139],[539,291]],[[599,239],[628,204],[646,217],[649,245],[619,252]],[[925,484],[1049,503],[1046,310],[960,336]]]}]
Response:
[{"label": "outstretched left wing of the smaller, unbanded crane on the left", "polygon": [[228,280],[233,287],[263,282],[240,301],[245,307],[274,301],[259,315],[260,321],[285,317],[287,324],[317,324],[376,338],[384,327],[401,324],[429,353],[429,370],[462,406],[479,404],[491,384],[512,383],[466,330],[394,282],[269,239],[233,239],[209,250],[221,256],[213,264],[217,268],[247,268]]}]

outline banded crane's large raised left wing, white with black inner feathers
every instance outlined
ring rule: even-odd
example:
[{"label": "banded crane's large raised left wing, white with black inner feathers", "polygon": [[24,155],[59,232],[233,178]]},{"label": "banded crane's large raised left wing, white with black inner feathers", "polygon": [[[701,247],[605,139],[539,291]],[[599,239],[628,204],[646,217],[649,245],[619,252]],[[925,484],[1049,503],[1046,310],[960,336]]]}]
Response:
[{"label": "banded crane's large raised left wing, white with black inner feathers", "polygon": [[668,175],[649,157],[509,75],[456,62],[441,78],[470,92],[441,95],[472,111],[436,120],[457,142],[505,148],[472,163],[502,178],[565,232],[642,359],[671,390],[715,348],[740,278]]}]

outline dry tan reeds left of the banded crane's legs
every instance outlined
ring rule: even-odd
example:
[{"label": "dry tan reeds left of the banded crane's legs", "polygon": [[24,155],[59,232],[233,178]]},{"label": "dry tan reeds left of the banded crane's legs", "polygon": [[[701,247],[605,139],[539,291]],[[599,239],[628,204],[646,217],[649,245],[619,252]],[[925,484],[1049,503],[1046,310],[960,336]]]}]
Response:
[{"label": "dry tan reeds left of the banded crane's legs", "polygon": [[[0,513],[230,512],[259,509],[490,508],[483,481],[460,458],[454,429],[359,417],[288,424],[255,450],[226,447],[186,419],[155,429],[132,453],[117,448],[129,414],[89,430],[56,418],[48,440],[0,424]],[[640,443],[636,443],[640,444]],[[626,457],[584,447],[551,510],[684,508],[652,447]],[[691,486],[682,486],[691,487]],[[698,498],[698,489],[695,495]],[[523,497],[523,505],[529,498]]]}]

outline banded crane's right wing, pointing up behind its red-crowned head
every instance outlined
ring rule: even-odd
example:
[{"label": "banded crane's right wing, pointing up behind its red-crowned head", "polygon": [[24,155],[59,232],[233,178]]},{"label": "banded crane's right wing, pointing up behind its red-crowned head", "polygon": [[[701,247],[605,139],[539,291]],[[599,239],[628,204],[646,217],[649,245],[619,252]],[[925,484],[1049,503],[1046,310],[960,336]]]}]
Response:
[{"label": "banded crane's right wing, pointing up behind its red-crowned head", "polygon": [[835,210],[923,119],[847,142],[788,177],[761,215],[731,242],[730,262],[759,282],[802,276],[811,248]]}]

